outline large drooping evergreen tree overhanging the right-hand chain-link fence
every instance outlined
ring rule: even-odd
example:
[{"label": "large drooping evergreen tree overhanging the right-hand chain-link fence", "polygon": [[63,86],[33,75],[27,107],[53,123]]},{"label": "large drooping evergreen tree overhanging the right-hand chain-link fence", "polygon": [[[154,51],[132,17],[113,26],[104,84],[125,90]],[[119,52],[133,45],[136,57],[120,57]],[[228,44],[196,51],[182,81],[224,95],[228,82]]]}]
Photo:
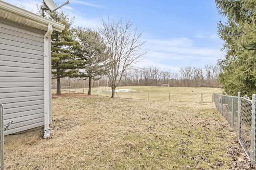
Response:
[{"label": "large drooping evergreen tree overhanging the right-hand chain-link fence", "polygon": [[[255,15],[252,0],[215,0],[219,13],[227,18],[218,23],[218,33],[223,39],[224,59],[219,60],[223,72],[219,81],[224,94],[237,95],[239,91],[251,96],[255,90],[256,32],[252,20]],[[255,27],[256,30],[256,27]]]}]

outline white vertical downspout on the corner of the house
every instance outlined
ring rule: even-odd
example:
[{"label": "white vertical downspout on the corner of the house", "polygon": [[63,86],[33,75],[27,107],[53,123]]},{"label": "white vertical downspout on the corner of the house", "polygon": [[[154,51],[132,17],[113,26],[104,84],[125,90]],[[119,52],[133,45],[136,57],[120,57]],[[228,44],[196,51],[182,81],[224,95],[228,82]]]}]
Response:
[{"label": "white vertical downspout on the corner of the house", "polygon": [[52,35],[52,25],[48,24],[48,31],[44,35],[44,138],[50,137],[49,127],[49,37]]}]

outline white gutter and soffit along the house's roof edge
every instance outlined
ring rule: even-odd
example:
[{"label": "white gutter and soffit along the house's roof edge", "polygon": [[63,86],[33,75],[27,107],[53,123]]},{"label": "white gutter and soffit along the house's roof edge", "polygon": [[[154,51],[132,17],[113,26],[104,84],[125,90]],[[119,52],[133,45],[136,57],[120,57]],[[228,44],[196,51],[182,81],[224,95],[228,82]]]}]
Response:
[{"label": "white gutter and soffit along the house's roof edge", "polygon": [[0,17],[44,31],[48,30],[48,24],[52,25],[53,30],[59,32],[65,28],[65,25],[61,23],[49,20],[2,0],[0,0]]}]

